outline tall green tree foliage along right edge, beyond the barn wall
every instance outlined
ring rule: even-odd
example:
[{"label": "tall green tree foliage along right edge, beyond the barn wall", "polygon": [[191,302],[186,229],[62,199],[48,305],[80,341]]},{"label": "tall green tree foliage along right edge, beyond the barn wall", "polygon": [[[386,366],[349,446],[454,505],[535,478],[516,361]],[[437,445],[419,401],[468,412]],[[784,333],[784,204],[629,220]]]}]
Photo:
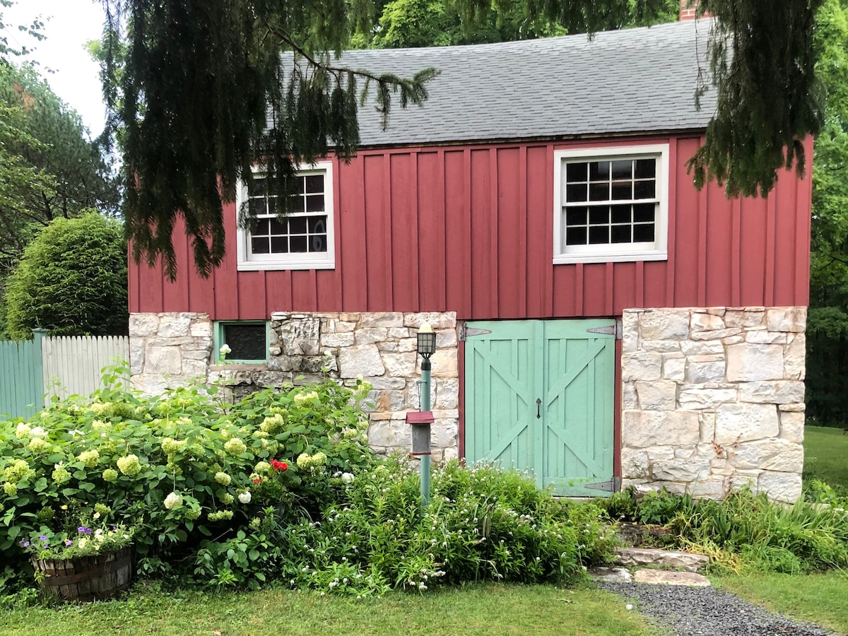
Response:
[{"label": "tall green tree foliage along right edge, beyond the barn wall", "polygon": [[812,173],[812,259],[807,319],[807,412],[848,421],[848,0],[817,15],[817,75],[827,94]]}]

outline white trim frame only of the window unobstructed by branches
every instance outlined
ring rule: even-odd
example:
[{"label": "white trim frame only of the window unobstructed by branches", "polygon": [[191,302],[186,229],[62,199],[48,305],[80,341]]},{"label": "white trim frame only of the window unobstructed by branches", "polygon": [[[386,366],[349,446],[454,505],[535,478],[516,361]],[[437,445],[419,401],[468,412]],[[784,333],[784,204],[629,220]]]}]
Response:
[{"label": "white trim frame only of the window unobstructed by branches", "polygon": [[[633,159],[639,155],[657,156],[656,187],[659,210],[653,243],[616,243],[604,245],[563,245],[562,240],[562,165],[567,159]],[[554,151],[554,265],[573,263],[622,263],[636,260],[668,259],[668,144],[615,146]],[[652,246],[652,247],[650,247]]]}]

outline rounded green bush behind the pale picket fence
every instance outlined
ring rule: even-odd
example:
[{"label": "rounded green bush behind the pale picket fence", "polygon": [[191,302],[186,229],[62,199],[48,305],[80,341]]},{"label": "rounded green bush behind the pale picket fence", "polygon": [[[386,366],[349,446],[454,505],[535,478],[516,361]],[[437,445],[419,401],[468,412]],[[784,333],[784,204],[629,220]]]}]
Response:
[{"label": "rounded green bush behind the pale picket fence", "polygon": [[88,210],[53,220],[24,251],[9,276],[7,329],[31,338],[126,334],[126,240],[118,220]]}]

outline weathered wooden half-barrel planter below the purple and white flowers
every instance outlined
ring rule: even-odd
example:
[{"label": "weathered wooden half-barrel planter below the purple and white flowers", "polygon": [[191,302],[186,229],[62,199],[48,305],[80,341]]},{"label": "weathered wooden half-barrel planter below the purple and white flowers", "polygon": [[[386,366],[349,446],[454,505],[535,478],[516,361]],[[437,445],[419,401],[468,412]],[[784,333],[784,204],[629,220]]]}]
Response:
[{"label": "weathered wooden half-barrel planter below the purple and white flowers", "polygon": [[85,603],[105,600],[129,589],[132,583],[132,547],[76,559],[32,559],[44,576],[42,589],[60,599]]}]

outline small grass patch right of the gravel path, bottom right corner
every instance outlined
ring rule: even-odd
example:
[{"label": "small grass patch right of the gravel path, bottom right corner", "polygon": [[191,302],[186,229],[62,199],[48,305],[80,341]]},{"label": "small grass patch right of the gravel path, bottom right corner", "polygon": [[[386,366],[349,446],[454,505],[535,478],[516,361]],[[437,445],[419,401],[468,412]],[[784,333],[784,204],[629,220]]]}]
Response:
[{"label": "small grass patch right of the gravel path, bottom right corner", "polygon": [[848,633],[848,572],[710,577],[714,585],[799,621]]}]

